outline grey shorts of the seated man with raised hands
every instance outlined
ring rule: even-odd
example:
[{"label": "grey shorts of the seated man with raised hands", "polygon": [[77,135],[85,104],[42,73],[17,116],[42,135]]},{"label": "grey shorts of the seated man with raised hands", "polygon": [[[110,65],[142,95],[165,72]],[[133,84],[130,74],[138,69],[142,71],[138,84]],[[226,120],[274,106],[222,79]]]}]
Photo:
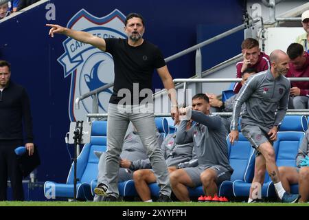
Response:
[{"label": "grey shorts of the seated man with raised hands", "polygon": [[211,168],[216,171],[217,173],[217,181],[216,184],[219,185],[222,183],[222,181],[231,179],[231,174],[233,173],[231,170],[228,170],[224,166],[215,165],[215,166],[209,166],[209,165],[199,165],[196,167],[186,167],[183,168],[187,175],[191,178],[194,186],[201,186],[201,174],[204,170],[207,170],[208,168]]}]

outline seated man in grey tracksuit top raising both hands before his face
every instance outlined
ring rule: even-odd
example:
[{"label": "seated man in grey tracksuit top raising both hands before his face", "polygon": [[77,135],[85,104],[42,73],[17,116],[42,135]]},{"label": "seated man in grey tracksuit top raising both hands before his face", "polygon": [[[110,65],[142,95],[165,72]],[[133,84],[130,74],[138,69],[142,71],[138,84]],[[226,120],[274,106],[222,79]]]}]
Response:
[{"label": "seated man in grey tracksuit top raising both hands before his face", "polygon": [[[231,178],[233,168],[229,166],[227,151],[227,129],[220,116],[209,115],[209,99],[205,94],[192,98],[192,109],[179,109],[181,124],[176,132],[176,143],[192,142],[198,166],[179,169],[170,174],[172,190],[180,201],[190,201],[187,186],[203,185],[205,195],[214,196],[218,185]],[[197,122],[188,131],[187,120]]]}]

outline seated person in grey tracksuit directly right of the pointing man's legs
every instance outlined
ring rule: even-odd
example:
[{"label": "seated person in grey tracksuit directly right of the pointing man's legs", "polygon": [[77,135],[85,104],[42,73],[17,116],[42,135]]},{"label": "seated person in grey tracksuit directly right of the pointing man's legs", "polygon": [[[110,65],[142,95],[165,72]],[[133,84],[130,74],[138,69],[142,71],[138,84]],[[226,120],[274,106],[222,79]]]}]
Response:
[{"label": "seated person in grey tracksuit directly right of the pointing man's legs", "polygon": [[[187,129],[190,129],[192,120],[187,122]],[[185,144],[176,144],[176,134],[168,134],[163,143],[161,144],[161,151],[165,158],[165,162],[168,165],[169,173],[174,170],[183,167],[196,166],[197,159],[194,159],[193,143],[187,142]],[[148,184],[155,183],[157,178],[153,173],[149,159],[137,160],[128,162],[127,167],[135,170],[133,173],[133,179],[135,183],[135,189],[139,194],[142,201],[152,202],[150,188]]]}]

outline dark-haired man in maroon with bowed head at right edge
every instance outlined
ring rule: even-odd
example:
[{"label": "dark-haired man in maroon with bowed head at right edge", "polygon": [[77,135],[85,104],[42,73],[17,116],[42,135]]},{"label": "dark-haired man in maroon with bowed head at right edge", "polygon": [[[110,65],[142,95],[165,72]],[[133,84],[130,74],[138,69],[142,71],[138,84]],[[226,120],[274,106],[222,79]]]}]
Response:
[{"label": "dark-haired man in maroon with bowed head at right edge", "polygon": [[[290,69],[286,77],[309,77],[309,54],[299,43],[292,43],[286,52],[290,58]],[[290,109],[308,109],[309,82],[291,82]]]}]

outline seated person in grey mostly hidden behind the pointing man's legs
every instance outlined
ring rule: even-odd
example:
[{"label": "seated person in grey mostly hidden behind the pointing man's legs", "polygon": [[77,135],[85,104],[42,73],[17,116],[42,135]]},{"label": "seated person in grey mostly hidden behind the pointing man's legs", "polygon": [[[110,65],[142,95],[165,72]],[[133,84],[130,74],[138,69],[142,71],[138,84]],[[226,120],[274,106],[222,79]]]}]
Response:
[{"label": "seated person in grey mostly hidden behind the pointing man's legs", "polygon": [[[159,132],[157,132],[157,142],[158,144],[161,144],[163,142],[163,137]],[[99,185],[100,183],[102,183],[102,179],[104,178],[105,153],[98,153],[97,155],[100,157],[98,164]],[[124,164],[124,161],[126,161],[126,159],[132,161],[137,159],[148,159],[146,148],[143,146],[141,138],[139,137],[135,128],[133,128],[133,131],[131,131],[130,133],[128,133],[128,135],[126,135],[126,137],[124,137],[124,145],[122,148],[122,153],[120,154],[120,158],[120,166]],[[129,179],[133,179],[133,171],[124,167],[119,168],[118,181],[126,181]],[[100,190],[102,190],[100,187],[96,187],[94,189],[95,197],[93,201],[104,201],[104,197],[100,195]]]}]

